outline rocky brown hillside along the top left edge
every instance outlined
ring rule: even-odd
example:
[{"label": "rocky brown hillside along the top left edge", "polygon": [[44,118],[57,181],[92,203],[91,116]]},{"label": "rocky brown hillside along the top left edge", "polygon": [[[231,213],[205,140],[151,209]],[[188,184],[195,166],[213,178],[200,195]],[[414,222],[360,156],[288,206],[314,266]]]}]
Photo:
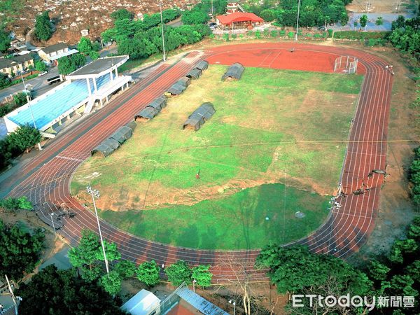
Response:
[{"label": "rocky brown hillside along the top left edge", "polygon": [[[163,8],[178,6],[185,9],[187,3],[195,2],[197,1],[163,1]],[[8,29],[15,31],[19,38],[23,38],[34,27],[36,15],[50,10],[50,18],[55,22],[57,30],[48,43],[42,45],[59,41],[76,43],[82,29],[89,29],[91,38],[98,37],[102,31],[111,27],[112,20],[109,15],[119,8],[126,8],[136,15],[159,11],[157,0],[6,0],[2,6],[9,6],[7,10],[2,8],[2,15],[3,18],[13,16],[14,20],[8,23]]]}]

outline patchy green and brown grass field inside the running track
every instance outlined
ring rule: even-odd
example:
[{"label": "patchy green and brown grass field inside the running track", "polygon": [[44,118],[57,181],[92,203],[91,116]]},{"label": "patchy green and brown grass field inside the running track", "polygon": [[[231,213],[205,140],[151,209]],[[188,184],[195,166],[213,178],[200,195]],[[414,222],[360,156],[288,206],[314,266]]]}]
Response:
[{"label": "patchy green and brown grass field inside the running track", "polygon": [[[113,155],[88,159],[72,194],[88,202],[90,181],[101,190],[103,218],[180,246],[258,248],[316,229],[339,179],[363,77],[247,68],[241,80],[222,83],[225,69],[211,66]],[[198,132],[181,130],[203,102],[215,115]]]}]

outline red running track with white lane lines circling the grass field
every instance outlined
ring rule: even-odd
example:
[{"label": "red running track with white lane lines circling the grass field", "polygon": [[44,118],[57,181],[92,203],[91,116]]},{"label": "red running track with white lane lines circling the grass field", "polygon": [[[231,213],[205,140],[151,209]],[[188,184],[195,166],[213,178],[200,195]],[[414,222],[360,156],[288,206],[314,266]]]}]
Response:
[{"label": "red running track with white lane lines circling the grass field", "polygon": [[[295,48],[290,52],[291,48]],[[295,43],[259,43],[229,45],[212,48],[204,53],[191,52],[178,64],[162,66],[150,78],[134,85],[127,94],[122,94],[41,152],[18,174],[17,185],[10,195],[27,195],[35,203],[64,202],[75,209],[77,216],[66,220],[60,234],[71,244],[77,244],[80,230],[97,230],[94,216],[73,200],[69,193],[72,174],[85,160],[94,146],[109,136],[121,125],[132,120],[135,113],[152,99],[165,92],[169,85],[185,75],[200,59],[211,63],[244,66],[261,66],[276,69],[332,72],[335,57],[351,55],[359,59],[359,72],[365,73],[360,100],[351,126],[349,145],[342,169],[346,198],[337,200],[340,209],[331,212],[328,220],[318,230],[298,241],[307,244],[316,253],[330,253],[337,257],[358,251],[374,228],[379,207],[379,191],[383,176],[374,174],[367,179],[372,169],[385,169],[388,114],[391,98],[392,76],[386,71],[386,63],[374,55],[359,50],[347,50],[321,45]],[[100,122],[100,124],[99,124]],[[369,193],[352,195],[360,188],[362,179],[371,187]],[[3,184],[2,184],[3,185]],[[6,185],[7,186],[7,185]],[[233,276],[232,269],[222,267],[221,262],[235,257],[252,268],[259,250],[207,251],[192,248],[167,246],[155,241],[130,235],[102,221],[104,237],[118,244],[123,257],[135,262],[154,259],[158,264],[170,264],[183,259],[191,265],[209,263],[216,281]],[[255,272],[254,280],[265,279],[265,271]]]}]

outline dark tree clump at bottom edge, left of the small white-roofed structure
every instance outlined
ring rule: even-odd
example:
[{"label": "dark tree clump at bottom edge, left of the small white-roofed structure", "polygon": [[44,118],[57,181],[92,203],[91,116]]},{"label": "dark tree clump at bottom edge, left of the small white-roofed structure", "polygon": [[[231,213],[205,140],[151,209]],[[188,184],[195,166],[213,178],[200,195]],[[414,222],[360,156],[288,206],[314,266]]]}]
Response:
[{"label": "dark tree clump at bottom edge, left of the small white-roofed structure", "polygon": [[125,314],[98,283],[77,278],[72,269],[57,270],[55,265],[42,269],[29,283],[20,283],[15,295],[22,297],[22,315]]}]

